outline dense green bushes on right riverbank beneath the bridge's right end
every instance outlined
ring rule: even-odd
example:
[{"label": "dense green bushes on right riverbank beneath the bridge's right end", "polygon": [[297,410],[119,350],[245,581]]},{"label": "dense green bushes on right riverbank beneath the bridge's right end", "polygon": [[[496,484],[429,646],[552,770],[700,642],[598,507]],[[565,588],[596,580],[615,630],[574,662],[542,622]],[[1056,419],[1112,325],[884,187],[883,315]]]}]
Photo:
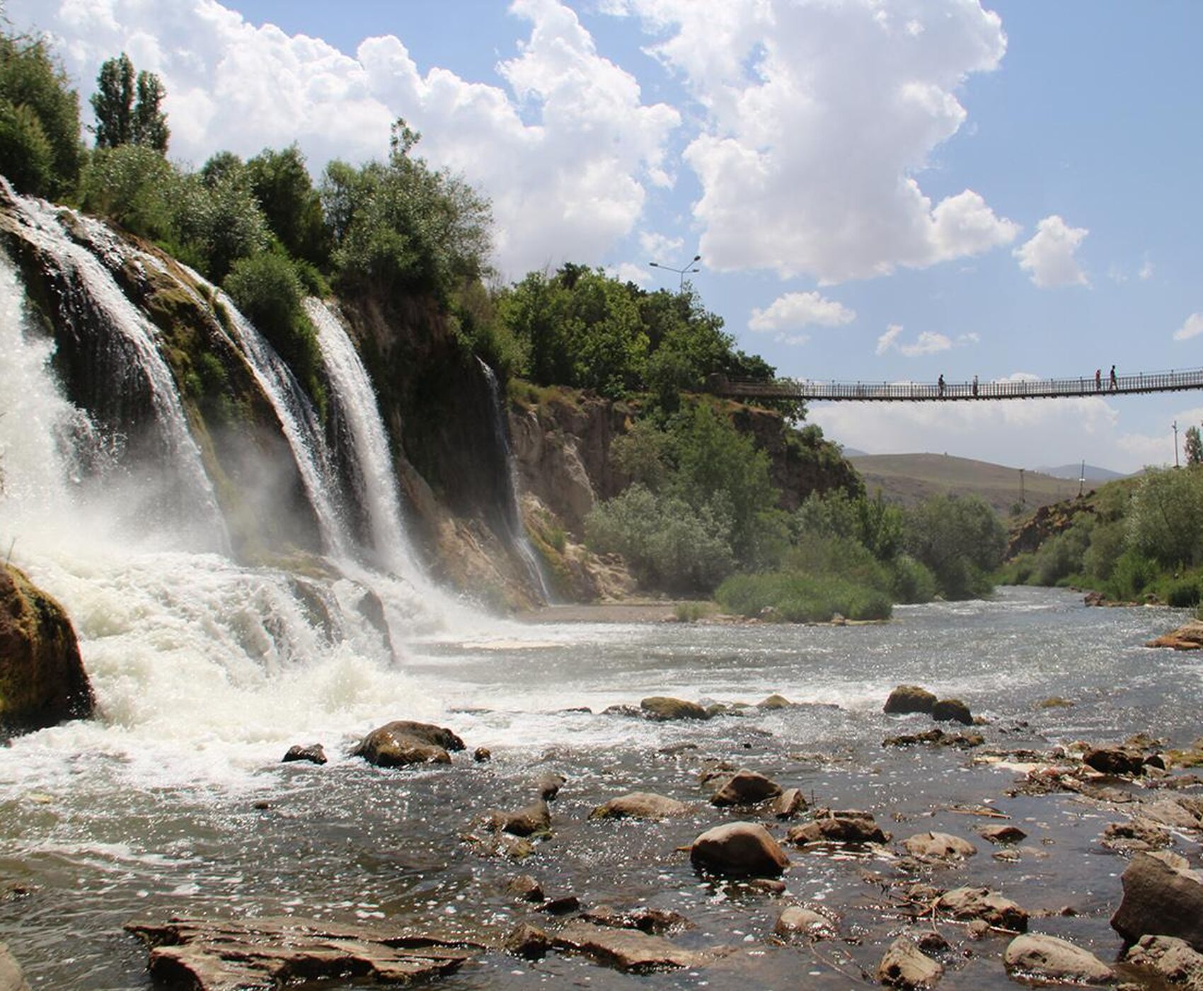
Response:
[{"label": "dense green bushes on right riverbank beneath the bridge's right end", "polygon": [[1043,506],[1014,529],[1005,584],[1086,588],[1092,604],[1197,609],[1203,594],[1203,468],[1150,469]]}]

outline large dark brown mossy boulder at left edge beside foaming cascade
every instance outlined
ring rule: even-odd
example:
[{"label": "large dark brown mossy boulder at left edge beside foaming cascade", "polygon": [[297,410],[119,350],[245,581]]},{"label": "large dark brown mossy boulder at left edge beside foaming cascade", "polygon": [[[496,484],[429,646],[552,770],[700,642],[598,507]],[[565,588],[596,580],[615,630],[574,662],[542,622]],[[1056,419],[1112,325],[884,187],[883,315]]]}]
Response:
[{"label": "large dark brown mossy boulder at left edge beside foaming cascade", "polygon": [[23,571],[0,564],[0,734],[87,719],[94,708],[63,606]]}]

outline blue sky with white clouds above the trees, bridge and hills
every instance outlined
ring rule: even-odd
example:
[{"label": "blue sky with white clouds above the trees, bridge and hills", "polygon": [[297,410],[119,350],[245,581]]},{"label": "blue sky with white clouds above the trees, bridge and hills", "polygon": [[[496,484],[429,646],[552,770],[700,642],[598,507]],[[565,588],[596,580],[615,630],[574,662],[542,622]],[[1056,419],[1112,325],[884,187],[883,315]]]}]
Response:
[{"label": "blue sky with white clouds above the trees, bridge and hills", "polygon": [[[694,286],[782,374],[1203,366],[1203,5],[8,0],[81,90],[128,51],[172,154],[420,150],[494,203],[509,278]],[[1173,463],[1203,397],[816,405],[871,452]]]}]

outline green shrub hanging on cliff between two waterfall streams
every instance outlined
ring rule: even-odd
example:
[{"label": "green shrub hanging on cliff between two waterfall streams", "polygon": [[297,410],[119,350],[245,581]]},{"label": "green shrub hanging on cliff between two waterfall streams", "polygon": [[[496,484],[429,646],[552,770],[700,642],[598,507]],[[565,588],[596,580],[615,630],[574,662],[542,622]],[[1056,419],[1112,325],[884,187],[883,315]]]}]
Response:
[{"label": "green shrub hanging on cliff between two waterfall streams", "polygon": [[292,263],[272,251],[239,259],[223,287],[324,409],[321,351],[302,305],[304,290]]}]

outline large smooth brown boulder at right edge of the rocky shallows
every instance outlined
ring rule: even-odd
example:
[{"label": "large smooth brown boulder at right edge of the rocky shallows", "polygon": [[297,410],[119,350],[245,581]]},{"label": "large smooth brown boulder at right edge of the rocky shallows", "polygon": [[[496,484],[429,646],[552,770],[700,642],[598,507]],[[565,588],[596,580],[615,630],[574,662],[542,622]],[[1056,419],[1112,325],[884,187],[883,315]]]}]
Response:
[{"label": "large smooth brown boulder at right edge of the rocky shallows", "polygon": [[1142,936],[1177,936],[1203,951],[1203,873],[1168,850],[1138,853],[1120,882],[1124,898],[1112,928],[1126,943]]}]

